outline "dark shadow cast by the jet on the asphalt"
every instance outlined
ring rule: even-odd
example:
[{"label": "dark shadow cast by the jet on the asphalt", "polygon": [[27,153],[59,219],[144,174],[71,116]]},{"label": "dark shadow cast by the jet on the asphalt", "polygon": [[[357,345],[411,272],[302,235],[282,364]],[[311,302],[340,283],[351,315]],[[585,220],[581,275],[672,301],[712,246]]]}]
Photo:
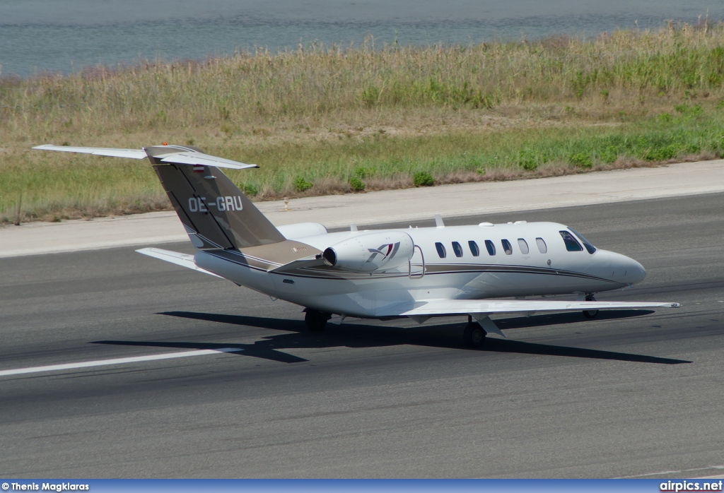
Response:
[{"label": "dark shadow cast by the jet on the asphalt", "polygon": [[[626,310],[601,312],[601,320],[638,317],[651,313],[644,310]],[[282,350],[294,351],[298,348],[372,348],[384,346],[400,346],[403,344],[434,348],[460,349],[460,333],[463,324],[426,325],[423,327],[380,327],[378,325],[346,324],[341,326],[327,325],[324,332],[309,332],[304,322],[295,320],[274,319],[265,317],[245,317],[243,315],[224,315],[203,312],[162,312],[171,317],[182,317],[208,322],[222,322],[232,325],[259,327],[271,330],[284,330],[284,334],[270,335],[248,343],[196,343],[196,342],[162,342],[162,341],[131,341],[131,340],[98,340],[97,344],[114,344],[119,346],[147,346],[159,348],[184,349],[220,349],[239,348],[232,352],[243,356],[269,359],[282,363],[300,363],[307,359],[294,356]],[[546,314],[537,317],[514,317],[497,320],[501,330],[533,327],[536,325],[557,325],[581,322],[579,314]],[[480,351],[480,350],[476,350]],[[481,352],[538,354],[541,356],[567,356],[573,358],[605,359],[615,361],[632,361],[637,363],[682,364],[691,363],[682,359],[660,358],[633,353],[618,353],[597,349],[575,348],[570,346],[554,346],[541,343],[526,343],[518,340],[489,338]]]}]

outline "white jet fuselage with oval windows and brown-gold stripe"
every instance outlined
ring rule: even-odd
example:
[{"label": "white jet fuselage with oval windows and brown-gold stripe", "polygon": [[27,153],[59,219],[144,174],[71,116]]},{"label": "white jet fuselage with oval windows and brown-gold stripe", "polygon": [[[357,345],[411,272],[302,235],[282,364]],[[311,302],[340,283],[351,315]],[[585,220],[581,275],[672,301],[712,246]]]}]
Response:
[{"label": "white jet fuselage with oval windows and brown-gold stripe", "polygon": [[639,262],[622,254],[589,252],[581,236],[558,223],[344,231],[296,238],[294,244],[323,252],[345,239],[378,231],[408,234],[418,247],[410,261],[371,273],[329,265],[277,273],[268,265],[253,265],[243,250],[199,252],[195,262],[269,296],[355,317],[374,317],[390,306],[422,299],[581,296],[631,286],[646,275]]}]

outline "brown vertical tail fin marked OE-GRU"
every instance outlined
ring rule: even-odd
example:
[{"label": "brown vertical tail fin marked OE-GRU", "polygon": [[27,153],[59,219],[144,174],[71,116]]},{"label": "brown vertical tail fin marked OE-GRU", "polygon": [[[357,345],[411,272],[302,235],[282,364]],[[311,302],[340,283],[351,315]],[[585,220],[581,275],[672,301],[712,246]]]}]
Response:
[{"label": "brown vertical tail fin marked OE-GRU", "polygon": [[197,248],[241,249],[285,240],[216,166],[154,164],[153,169]]}]

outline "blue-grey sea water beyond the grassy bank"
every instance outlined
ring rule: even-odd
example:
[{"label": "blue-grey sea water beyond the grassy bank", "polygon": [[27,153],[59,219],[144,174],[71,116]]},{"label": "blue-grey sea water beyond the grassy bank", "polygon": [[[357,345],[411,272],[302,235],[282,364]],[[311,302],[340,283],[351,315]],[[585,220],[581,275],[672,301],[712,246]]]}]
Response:
[{"label": "blue-grey sea water beyond the grassy bank", "polygon": [[471,44],[724,19],[724,0],[0,0],[0,76],[300,46]]}]

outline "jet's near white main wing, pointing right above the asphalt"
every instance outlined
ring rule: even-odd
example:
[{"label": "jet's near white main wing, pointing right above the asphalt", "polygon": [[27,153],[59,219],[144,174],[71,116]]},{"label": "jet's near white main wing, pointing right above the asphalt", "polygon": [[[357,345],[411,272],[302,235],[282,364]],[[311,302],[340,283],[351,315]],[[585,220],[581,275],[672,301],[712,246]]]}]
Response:
[{"label": "jet's near white main wing, pointing right above the asphalt", "polygon": [[419,301],[416,306],[390,307],[378,317],[413,317],[420,315],[463,315],[463,314],[504,314],[540,312],[582,312],[610,309],[676,308],[678,303],[655,303],[638,301],[558,301],[558,300],[482,300],[482,299],[441,299]]}]

